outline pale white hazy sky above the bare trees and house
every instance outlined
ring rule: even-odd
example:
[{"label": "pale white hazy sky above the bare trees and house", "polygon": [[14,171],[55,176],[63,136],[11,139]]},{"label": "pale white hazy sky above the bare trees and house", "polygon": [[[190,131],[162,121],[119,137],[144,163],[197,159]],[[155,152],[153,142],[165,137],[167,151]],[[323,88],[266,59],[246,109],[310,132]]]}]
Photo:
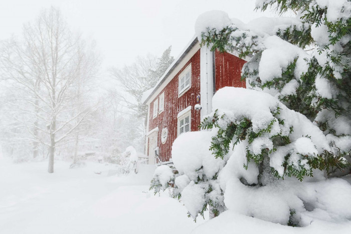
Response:
[{"label": "pale white hazy sky above the bare trees and house", "polygon": [[255,0],[0,0],[0,40],[21,33],[45,8],[61,9],[69,25],[94,39],[102,67],[122,67],[138,55],[160,55],[169,45],[177,57],[195,34],[197,17],[223,10],[243,22],[269,13],[254,11]]}]

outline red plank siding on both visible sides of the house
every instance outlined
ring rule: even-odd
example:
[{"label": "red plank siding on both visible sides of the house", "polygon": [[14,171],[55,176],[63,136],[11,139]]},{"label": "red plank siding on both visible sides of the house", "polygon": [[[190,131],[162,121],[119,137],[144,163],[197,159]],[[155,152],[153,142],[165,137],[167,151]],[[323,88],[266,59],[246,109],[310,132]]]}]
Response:
[{"label": "red plank siding on both visible sides of the house", "polygon": [[[205,48],[206,49],[206,48]],[[159,157],[161,161],[168,161],[171,155],[171,146],[173,141],[178,136],[178,118],[177,115],[182,110],[186,109],[188,106],[192,106],[191,110],[191,131],[198,131],[199,125],[201,122],[200,111],[196,111],[194,106],[197,104],[196,98],[201,93],[201,81],[200,81],[200,53],[202,50],[202,59],[204,60],[205,49],[198,49],[197,52],[189,59],[188,62],[180,69],[180,71],[173,76],[169,83],[153,98],[153,100],[148,104],[148,130],[152,131],[153,129],[158,128],[157,131],[157,146],[159,147]],[[218,51],[214,52],[215,56],[215,83],[216,91],[220,88],[226,86],[233,87],[244,87],[246,88],[245,81],[241,81],[241,69],[246,63],[245,60],[242,60],[229,53],[220,53]],[[212,56],[207,53],[207,56]],[[210,56],[210,57],[211,57]],[[210,57],[207,58],[207,63],[210,61]],[[202,61],[202,66],[204,66],[204,61]],[[210,61],[212,64],[212,61]],[[179,75],[188,67],[189,64],[192,64],[192,85],[191,88],[186,91],[182,96],[178,95],[178,77]],[[207,64],[206,63],[206,64]],[[209,66],[207,66],[209,67]],[[211,67],[211,66],[210,66]],[[209,70],[209,69],[208,69]],[[204,73],[203,69],[203,73]],[[212,73],[211,71],[205,71],[205,73]],[[210,76],[212,79],[212,76]],[[205,78],[205,77],[204,77]],[[203,78],[203,79],[204,79]],[[212,82],[212,81],[210,81]],[[212,86],[211,86],[212,87]],[[210,90],[211,91],[211,90]],[[208,91],[208,92],[210,92]],[[161,113],[158,113],[157,117],[153,118],[153,102],[158,100],[159,96],[164,92],[164,110]],[[212,91],[213,92],[213,91]],[[204,95],[204,92],[203,92]],[[203,96],[202,95],[202,96]],[[212,97],[212,96],[211,96]],[[205,97],[201,97],[201,101],[204,102]],[[209,100],[211,101],[211,100]],[[200,103],[201,106],[204,106],[206,103]],[[159,105],[159,103],[158,103]],[[212,110],[208,110],[211,112]],[[167,128],[168,136],[164,144],[161,143],[161,133],[162,129]],[[147,138],[147,149],[146,152],[149,152],[149,140]],[[153,156],[153,155],[152,155]]]}]

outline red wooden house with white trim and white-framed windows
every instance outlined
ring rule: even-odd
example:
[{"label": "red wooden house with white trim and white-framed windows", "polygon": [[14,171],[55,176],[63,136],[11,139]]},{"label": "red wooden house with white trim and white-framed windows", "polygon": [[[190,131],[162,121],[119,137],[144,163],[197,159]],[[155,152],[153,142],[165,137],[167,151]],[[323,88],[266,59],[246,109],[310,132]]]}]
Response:
[{"label": "red wooden house with white trim and white-framed windows", "polygon": [[217,90],[246,87],[240,76],[245,63],[236,55],[200,48],[196,37],[191,40],[155,87],[144,93],[143,103],[148,106],[145,154],[149,155],[149,164],[158,158],[169,161],[175,138],[200,130],[201,119],[212,112],[212,97]]}]

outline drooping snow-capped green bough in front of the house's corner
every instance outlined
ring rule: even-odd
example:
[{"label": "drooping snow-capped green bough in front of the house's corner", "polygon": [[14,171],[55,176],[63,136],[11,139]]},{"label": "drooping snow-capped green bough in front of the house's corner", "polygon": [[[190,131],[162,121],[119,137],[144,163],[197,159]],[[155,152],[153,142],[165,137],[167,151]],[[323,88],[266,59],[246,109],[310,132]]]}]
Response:
[{"label": "drooping snow-capped green bough in front of the house's corner", "polygon": [[257,166],[269,162],[270,167],[259,168],[260,184],[265,184],[264,170],[278,178],[296,176],[302,181],[313,175],[313,169],[329,172],[348,165],[316,125],[267,93],[226,87],[216,93],[213,106],[217,110],[202,123],[216,132],[210,147],[213,154],[224,158],[231,146],[242,142],[245,168],[250,161]]}]

